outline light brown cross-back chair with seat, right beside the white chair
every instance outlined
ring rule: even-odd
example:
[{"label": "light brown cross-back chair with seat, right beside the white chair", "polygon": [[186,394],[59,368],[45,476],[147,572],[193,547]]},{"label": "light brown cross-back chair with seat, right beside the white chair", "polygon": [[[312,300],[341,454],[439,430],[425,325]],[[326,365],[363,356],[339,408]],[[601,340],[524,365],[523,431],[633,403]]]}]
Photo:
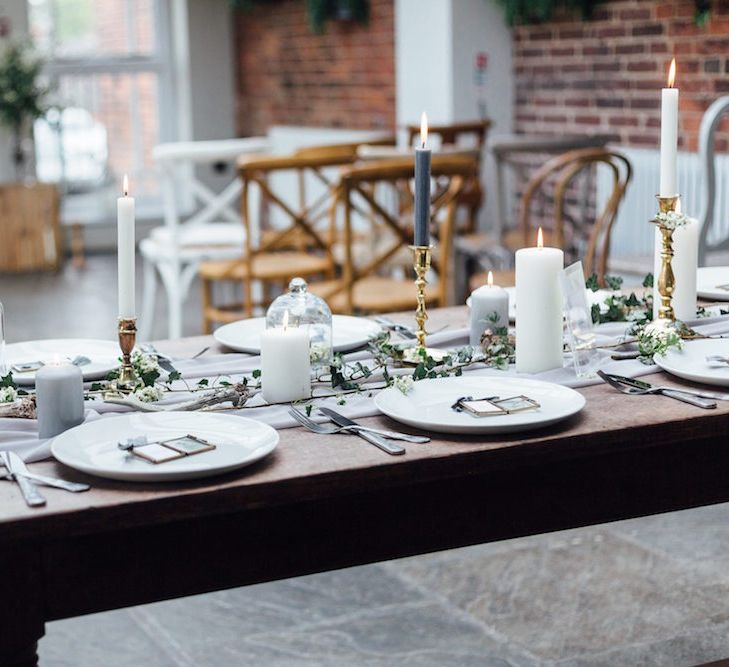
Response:
[{"label": "light brown cross-back chair with seat, right beside the white chair", "polygon": [[[269,300],[268,288],[285,289],[297,276],[333,278],[335,262],[329,208],[336,183],[324,171],[328,168],[351,164],[355,150],[306,151],[290,156],[245,156],[238,161],[242,183],[241,217],[245,231],[243,255],[228,261],[206,262],[200,266],[203,287],[203,326],[210,332],[214,322],[225,323],[251,317],[258,304],[253,298],[253,284],[264,287],[264,303]],[[299,180],[298,204],[291,204],[275,186],[276,176],[295,173]],[[323,188],[313,201],[307,201],[303,191],[303,178],[313,174]],[[269,210],[277,210],[286,225],[267,230],[258,229],[251,219],[250,197],[258,188]],[[281,188],[282,190],[285,187]],[[218,282],[233,282],[243,287],[242,304],[216,305],[213,286]]]}]

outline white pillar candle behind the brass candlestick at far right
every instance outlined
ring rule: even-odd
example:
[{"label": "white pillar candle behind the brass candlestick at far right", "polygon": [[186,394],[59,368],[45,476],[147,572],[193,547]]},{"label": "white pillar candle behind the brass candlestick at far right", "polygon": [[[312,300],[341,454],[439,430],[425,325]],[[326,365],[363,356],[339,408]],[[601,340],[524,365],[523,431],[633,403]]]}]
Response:
[{"label": "white pillar candle behind the brass candlestick at far right", "polygon": [[[661,297],[658,294],[658,279],[661,275],[661,232],[656,229],[655,253],[653,256],[653,319],[658,318]],[[699,223],[690,219],[685,226],[673,232],[673,259],[671,268],[675,287],[671,305],[677,320],[687,322],[696,319],[696,271],[699,266]]]}]

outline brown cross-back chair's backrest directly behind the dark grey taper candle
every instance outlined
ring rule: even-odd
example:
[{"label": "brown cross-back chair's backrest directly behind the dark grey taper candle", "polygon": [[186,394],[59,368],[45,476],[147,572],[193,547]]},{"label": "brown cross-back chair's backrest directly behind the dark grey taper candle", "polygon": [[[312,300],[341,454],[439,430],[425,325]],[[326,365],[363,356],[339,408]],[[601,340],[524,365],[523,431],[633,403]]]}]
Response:
[{"label": "brown cross-back chair's backrest directly behind the dark grey taper candle", "polygon": [[[437,253],[432,260],[432,268],[438,275],[438,304],[448,302],[451,273],[453,270],[451,256],[453,230],[455,225],[458,198],[464,187],[477,173],[478,164],[473,158],[465,156],[434,155],[431,164],[433,179],[447,180],[445,190],[438,190],[431,198],[431,227],[434,239],[437,240]],[[397,192],[408,190],[414,177],[412,158],[398,158],[381,162],[369,162],[345,167],[342,170],[337,200],[344,207],[343,244],[344,263],[342,279],[326,296],[344,292],[347,310],[354,312],[356,304],[353,300],[356,284],[381,270],[388,269],[388,262],[403,248],[412,245],[413,224],[412,203],[404,210],[401,206],[398,213],[386,209],[375,193],[378,185],[388,184]],[[380,243],[376,250],[364,262],[354,257],[354,225],[353,213],[366,210],[371,224],[389,232],[390,239]],[[332,219],[337,210],[333,209]]]}]

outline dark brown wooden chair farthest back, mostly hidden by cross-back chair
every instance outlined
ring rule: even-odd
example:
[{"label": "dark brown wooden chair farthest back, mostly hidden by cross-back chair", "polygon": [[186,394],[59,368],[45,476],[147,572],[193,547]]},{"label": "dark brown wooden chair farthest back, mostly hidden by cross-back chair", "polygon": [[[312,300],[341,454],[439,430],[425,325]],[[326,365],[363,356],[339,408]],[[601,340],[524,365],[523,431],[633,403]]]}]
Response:
[{"label": "dark brown wooden chair farthest back, mostly hidden by cross-back chair", "polygon": [[[449,125],[429,125],[428,136],[440,137],[441,146],[443,147],[463,147],[463,139],[471,139],[471,144],[467,147],[477,151],[480,158],[483,156],[483,149],[486,145],[486,138],[491,127],[491,121],[488,118],[474,121],[466,121],[462,123],[452,123]],[[420,125],[408,125],[408,146],[412,146],[414,141],[420,138]],[[480,165],[479,165],[480,166]],[[480,169],[476,172],[475,177],[466,184],[463,193],[458,199],[460,206],[466,209],[467,216],[465,225],[459,232],[473,233],[478,225],[478,212],[483,205],[484,191],[481,185]]]}]

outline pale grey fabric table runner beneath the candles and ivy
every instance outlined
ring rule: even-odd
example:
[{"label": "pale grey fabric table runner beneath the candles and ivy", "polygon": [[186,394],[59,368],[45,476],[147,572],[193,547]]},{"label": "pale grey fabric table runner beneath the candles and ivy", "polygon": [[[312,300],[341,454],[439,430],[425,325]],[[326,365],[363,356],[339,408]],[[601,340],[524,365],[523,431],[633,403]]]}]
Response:
[{"label": "pale grey fabric table runner beneath the candles and ivy", "polygon": [[[703,318],[687,323],[697,332],[703,335],[720,335],[729,334],[729,316]],[[629,325],[625,322],[611,322],[595,327],[596,333],[600,336],[601,344],[609,345],[619,343],[625,340]],[[468,329],[452,329],[441,331],[428,337],[427,344],[431,347],[439,348],[457,348],[468,343]],[[643,364],[636,360],[614,361],[610,359],[611,350],[605,350],[605,361],[601,368],[608,373],[619,373],[629,377],[637,377],[639,375],[647,375],[655,373],[658,367],[653,364]],[[367,350],[360,350],[345,355],[347,362],[361,361],[363,364],[372,365],[372,355]],[[217,354],[205,355],[198,359],[175,361],[175,367],[182,373],[184,380],[173,383],[175,389],[185,389],[187,386],[194,386],[196,380],[207,377],[214,378],[217,375],[225,374],[231,382],[241,379],[245,374],[250,375],[251,371],[260,368],[260,357],[257,355],[247,354]],[[410,374],[412,369],[403,368],[396,369],[392,374]],[[477,376],[498,376],[498,377],[524,377],[544,380],[546,382],[555,382],[568,387],[586,387],[588,385],[600,384],[602,380],[597,377],[578,378],[575,375],[572,365],[571,355],[565,355],[565,365],[562,368],[556,368],[543,373],[526,374],[517,373],[512,365],[507,370],[498,370],[488,368],[482,365],[474,365],[473,368],[464,370]],[[351,419],[358,417],[368,417],[378,414],[375,407],[372,394],[376,391],[374,387],[381,386],[382,375],[374,374],[370,381],[373,390],[365,390],[359,394],[348,394],[344,397],[344,404],[340,405],[339,398],[319,398],[317,405],[330,407],[333,410],[341,412]],[[185,384],[187,381],[187,384]],[[379,385],[378,385],[379,382]],[[331,390],[326,387],[317,387],[315,389],[315,397],[317,394],[330,393]],[[180,392],[168,394],[162,401],[165,405],[174,405],[178,402],[187,401],[190,394]],[[257,394],[240,410],[229,410],[224,414],[239,415],[257,419],[259,421],[270,424],[274,428],[283,429],[298,426],[298,423],[288,414],[288,405],[268,405],[265,403],[260,394]],[[115,414],[129,412],[130,408],[104,403],[101,400],[95,400],[90,403],[90,407],[86,410],[86,421],[94,419],[103,419],[113,417]],[[317,415],[316,411],[312,412],[312,419],[315,421],[326,421],[324,417]],[[38,439],[38,423],[32,419],[0,419],[0,449],[11,449],[17,452],[25,461],[39,461],[50,456],[50,446],[48,440]]]}]

